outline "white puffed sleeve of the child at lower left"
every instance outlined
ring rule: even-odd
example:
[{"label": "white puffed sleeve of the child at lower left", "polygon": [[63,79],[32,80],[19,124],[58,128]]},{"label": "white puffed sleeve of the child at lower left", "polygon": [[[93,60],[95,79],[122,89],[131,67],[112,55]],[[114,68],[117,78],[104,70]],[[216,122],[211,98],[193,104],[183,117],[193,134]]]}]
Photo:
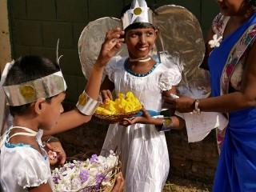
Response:
[{"label": "white puffed sleeve of the child at lower left", "polygon": [[37,150],[30,147],[16,153],[11,160],[14,163],[14,178],[19,186],[40,186],[50,178],[50,165]]}]

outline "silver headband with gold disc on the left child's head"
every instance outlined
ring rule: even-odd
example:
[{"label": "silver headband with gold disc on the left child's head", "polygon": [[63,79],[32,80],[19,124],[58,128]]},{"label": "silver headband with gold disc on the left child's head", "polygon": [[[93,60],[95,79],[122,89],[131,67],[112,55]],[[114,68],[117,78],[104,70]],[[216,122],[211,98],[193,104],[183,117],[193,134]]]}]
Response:
[{"label": "silver headband with gold disc on the left child's head", "polygon": [[66,90],[66,82],[62,72],[23,82],[13,86],[2,86],[10,106],[22,106],[35,102],[38,98],[50,98]]}]

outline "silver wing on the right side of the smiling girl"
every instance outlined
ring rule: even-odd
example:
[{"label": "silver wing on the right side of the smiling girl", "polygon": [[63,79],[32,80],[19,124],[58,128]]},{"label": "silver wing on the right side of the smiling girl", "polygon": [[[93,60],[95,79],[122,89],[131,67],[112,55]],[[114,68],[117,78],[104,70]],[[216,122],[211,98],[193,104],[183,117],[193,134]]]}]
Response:
[{"label": "silver wing on the right side of the smiling girl", "polygon": [[[198,68],[205,54],[198,19],[182,6],[160,6],[156,13],[154,24],[159,29],[156,46],[160,60],[169,68],[172,67],[171,63],[178,63],[179,69],[182,70],[178,91],[194,98],[209,96],[209,74],[206,70]],[[161,53],[167,57],[161,59]]]}]

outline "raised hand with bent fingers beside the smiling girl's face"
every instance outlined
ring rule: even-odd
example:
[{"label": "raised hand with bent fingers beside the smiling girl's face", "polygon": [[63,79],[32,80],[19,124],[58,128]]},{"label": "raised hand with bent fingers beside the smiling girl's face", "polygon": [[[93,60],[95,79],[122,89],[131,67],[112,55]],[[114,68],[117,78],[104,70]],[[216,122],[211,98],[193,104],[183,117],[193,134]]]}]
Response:
[{"label": "raised hand with bent fingers beside the smiling girl's face", "polygon": [[102,48],[98,55],[98,63],[101,66],[106,66],[107,62],[110,61],[118,50],[120,50],[122,46],[122,42],[125,41],[123,35],[125,32],[121,30],[119,27],[109,30],[106,33],[105,41],[102,43]]}]

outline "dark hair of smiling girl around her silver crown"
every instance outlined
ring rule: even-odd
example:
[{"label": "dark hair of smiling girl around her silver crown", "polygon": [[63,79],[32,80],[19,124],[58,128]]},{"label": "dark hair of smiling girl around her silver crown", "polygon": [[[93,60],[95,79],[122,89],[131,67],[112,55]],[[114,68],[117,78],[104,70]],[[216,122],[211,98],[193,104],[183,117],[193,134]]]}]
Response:
[{"label": "dark hair of smiling girl around her silver crown", "polygon": [[[131,6],[131,3],[127,4],[126,6],[123,7],[122,9],[122,14],[121,14],[121,17],[123,16],[123,14],[126,13],[126,10],[130,10],[130,6]],[[152,10],[154,12],[154,8],[151,7],[151,6],[148,6],[150,8],[150,10]],[[154,12],[154,14],[156,14]],[[127,26],[126,29],[125,29],[125,34],[127,33],[127,31],[129,30],[134,30],[134,29],[138,29],[138,28],[153,28],[154,30],[156,29],[156,27],[148,22],[134,22],[133,24],[131,24],[130,26]]]}]

